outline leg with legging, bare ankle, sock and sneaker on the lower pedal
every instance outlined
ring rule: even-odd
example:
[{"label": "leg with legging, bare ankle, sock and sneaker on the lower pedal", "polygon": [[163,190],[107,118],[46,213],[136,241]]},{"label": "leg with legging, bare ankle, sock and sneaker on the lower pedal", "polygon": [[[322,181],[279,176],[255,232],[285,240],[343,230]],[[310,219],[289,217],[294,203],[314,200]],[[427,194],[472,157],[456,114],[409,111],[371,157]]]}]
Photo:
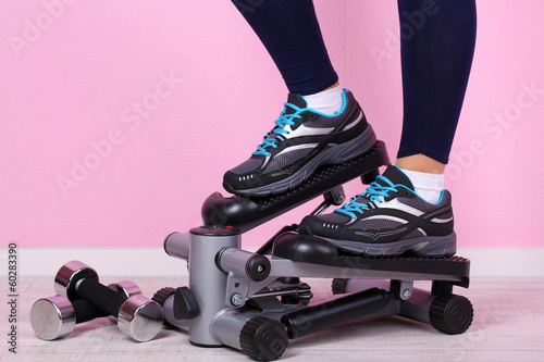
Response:
[{"label": "leg with legging, bare ankle, sock and sneaker on the lower pedal", "polygon": [[447,163],[475,41],[474,0],[398,0],[404,122],[397,166],[300,230],[368,255],[456,252]]}]

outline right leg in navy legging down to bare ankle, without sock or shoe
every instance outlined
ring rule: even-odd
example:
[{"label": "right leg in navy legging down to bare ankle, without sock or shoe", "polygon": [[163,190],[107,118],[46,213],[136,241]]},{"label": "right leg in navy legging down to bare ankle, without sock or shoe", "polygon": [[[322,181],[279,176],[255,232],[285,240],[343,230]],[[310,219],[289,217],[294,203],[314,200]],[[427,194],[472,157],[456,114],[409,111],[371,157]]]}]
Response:
[{"label": "right leg in navy legging down to bare ankle, without sock or shoe", "polygon": [[443,173],[474,53],[474,0],[398,0],[404,120],[397,165]]}]

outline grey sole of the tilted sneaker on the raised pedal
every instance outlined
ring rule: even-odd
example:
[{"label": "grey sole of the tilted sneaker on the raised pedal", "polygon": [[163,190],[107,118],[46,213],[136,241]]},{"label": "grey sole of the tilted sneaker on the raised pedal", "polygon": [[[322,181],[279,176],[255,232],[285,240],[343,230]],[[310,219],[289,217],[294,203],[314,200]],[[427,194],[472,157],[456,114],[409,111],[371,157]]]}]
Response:
[{"label": "grey sole of the tilted sneaker on the raised pedal", "polygon": [[364,132],[359,136],[357,136],[356,138],[345,143],[337,145],[329,148],[327,150],[324,150],[316,158],[311,159],[298,172],[284,179],[281,179],[270,185],[264,185],[245,190],[236,190],[232,188],[231,185],[228,184],[223,184],[223,187],[232,194],[242,196],[264,197],[269,195],[282,194],[299,186],[305,180],[310,178],[319,166],[322,166],[324,164],[344,163],[361,154],[367,153],[372,149],[375,141],[376,137],[374,130],[369,124],[364,129]]}]

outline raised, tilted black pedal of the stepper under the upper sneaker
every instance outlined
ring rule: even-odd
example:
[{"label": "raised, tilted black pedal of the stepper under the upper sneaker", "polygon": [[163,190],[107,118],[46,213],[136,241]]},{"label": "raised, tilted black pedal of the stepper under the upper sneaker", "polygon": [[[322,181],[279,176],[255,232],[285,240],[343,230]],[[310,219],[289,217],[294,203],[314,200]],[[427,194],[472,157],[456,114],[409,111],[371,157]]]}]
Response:
[{"label": "raised, tilted black pedal of the stepper under the upper sneaker", "polygon": [[388,164],[385,143],[376,141],[372,150],[363,155],[342,164],[322,166],[300,186],[283,194],[223,197],[220,192],[214,192],[202,204],[202,221],[205,225],[233,226],[247,232],[334,187]]}]

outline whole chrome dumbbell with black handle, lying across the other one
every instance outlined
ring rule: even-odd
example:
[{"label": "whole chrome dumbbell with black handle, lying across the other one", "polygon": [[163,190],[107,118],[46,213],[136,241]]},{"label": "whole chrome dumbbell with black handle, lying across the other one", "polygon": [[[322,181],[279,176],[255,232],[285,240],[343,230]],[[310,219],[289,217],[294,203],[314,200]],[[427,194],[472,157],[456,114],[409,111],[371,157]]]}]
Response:
[{"label": "whole chrome dumbbell with black handle, lying across the other one", "polygon": [[127,296],[112,290],[79,261],[67,262],[59,270],[54,289],[71,301],[85,300],[106,315],[116,316],[120,330],[137,341],[150,340],[161,329],[164,315],[157,302],[141,294]]}]

